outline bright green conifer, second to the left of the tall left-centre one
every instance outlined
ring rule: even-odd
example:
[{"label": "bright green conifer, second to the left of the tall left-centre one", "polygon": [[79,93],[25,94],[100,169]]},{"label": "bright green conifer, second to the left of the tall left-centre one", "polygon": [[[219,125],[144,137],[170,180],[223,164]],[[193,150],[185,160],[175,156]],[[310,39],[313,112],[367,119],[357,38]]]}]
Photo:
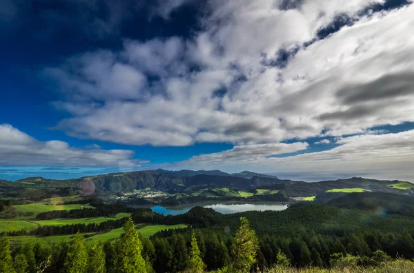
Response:
[{"label": "bright green conifer, second to the left of the tall left-centre one", "polygon": [[85,239],[79,232],[75,235],[68,248],[65,260],[65,268],[68,273],[84,273],[88,266],[88,251],[86,250]]}]

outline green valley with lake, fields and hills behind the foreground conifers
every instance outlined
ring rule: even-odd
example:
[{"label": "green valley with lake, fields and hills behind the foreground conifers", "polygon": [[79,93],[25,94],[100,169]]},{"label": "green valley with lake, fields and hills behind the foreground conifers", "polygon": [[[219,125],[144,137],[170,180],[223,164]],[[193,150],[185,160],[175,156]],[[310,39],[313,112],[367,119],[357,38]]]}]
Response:
[{"label": "green valley with lake, fields and hills behind the foreground conifers", "polygon": [[155,272],[186,269],[184,262],[178,270],[166,261],[189,259],[177,256],[176,247],[190,251],[186,245],[193,232],[206,271],[214,271],[232,265],[231,245],[245,217],[259,240],[259,268],[276,264],[279,251],[295,267],[306,267],[318,256],[317,266],[333,267],[335,253],[372,259],[381,250],[392,258],[402,253],[414,258],[411,183],[356,177],[306,183],[244,176],[150,170],[2,181],[0,233],[8,236],[12,250],[34,247],[53,256],[52,249],[62,251],[81,238],[88,248],[103,244],[110,257],[131,219]]}]

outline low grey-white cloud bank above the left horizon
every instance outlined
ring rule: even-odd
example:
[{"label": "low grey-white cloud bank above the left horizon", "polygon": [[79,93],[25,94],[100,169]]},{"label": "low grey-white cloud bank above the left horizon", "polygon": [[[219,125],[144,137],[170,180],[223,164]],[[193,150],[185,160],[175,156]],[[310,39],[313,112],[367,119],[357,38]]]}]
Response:
[{"label": "low grey-white cloud bank above the left horizon", "polygon": [[0,165],[2,166],[136,166],[130,150],[82,149],[63,141],[38,141],[8,124],[0,124]]}]

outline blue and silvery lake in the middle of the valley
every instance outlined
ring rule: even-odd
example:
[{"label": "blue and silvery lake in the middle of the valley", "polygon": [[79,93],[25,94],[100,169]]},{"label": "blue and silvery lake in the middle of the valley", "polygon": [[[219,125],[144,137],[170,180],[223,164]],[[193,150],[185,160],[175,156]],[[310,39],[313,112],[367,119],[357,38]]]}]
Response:
[{"label": "blue and silvery lake in the middle of the valley", "polygon": [[161,207],[156,205],[151,208],[153,212],[157,212],[164,215],[177,215],[188,212],[195,206],[202,206],[204,208],[212,208],[213,210],[228,214],[236,212],[246,212],[248,210],[286,210],[287,205],[274,204],[274,203],[255,203],[255,204],[192,204],[192,205],[180,205],[176,207]]}]

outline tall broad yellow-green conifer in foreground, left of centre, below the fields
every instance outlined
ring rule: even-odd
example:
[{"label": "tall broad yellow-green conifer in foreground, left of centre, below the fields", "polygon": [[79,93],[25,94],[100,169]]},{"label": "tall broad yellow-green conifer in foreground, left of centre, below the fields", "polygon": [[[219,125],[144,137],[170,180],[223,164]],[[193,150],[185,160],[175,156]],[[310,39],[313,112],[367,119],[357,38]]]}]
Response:
[{"label": "tall broad yellow-green conifer in foreground, left of centre, below the fields", "polygon": [[117,241],[116,271],[121,273],[146,273],[146,264],[141,256],[142,243],[132,219],[124,225],[124,233]]}]

